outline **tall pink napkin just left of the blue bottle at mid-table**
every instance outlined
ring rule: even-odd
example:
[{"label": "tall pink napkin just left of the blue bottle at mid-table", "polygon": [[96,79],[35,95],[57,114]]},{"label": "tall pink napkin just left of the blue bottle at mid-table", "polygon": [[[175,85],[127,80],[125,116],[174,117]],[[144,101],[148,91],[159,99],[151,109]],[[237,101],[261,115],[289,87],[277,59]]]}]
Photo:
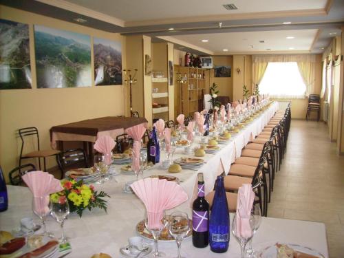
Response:
[{"label": "tall pink napkin just left of the blue bottle at mid-table", "polygon": [[133,162],[131,165],[133,171],[140,170],[141,138],[145,131],[146,127],[142,124],[134,125],[133,127],[125,129],[125,133],[127,133],[129,137],[133,138]]}]

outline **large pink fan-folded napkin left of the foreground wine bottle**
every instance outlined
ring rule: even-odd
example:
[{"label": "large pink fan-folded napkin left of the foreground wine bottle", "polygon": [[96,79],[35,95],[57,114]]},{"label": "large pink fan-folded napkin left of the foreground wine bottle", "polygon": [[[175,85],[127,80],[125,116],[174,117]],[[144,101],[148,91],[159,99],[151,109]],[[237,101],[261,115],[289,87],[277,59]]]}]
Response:
[{"label": "large pink fan-folded napkin left of the foreground wine bottle", "polygon": [[164,211],[188,200],[182,186],[165,179],[144,178],[133,182],[131,189],[146,206],[149,228],[160,228]]}]

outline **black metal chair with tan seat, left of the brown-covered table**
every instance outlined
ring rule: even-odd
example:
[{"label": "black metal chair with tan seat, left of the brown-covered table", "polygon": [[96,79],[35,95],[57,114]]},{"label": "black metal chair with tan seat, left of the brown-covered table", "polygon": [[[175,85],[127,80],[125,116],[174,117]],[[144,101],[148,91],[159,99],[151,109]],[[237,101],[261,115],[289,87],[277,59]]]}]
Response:
[{"label": "black metal chair with tan seat, left of the brown-covered table", "polygon": [[[18,130],[19,136],[21,138],[21,153],[19,156],[19,166],[21,166],[21,160],[27,159],[27,158],[38,158],[39,159],[39,169],[41,170],[41,158],[43,158],[44,161],[44,171],[47,171],[47,167],[45,164],[45,158],[56,156],[60,151],[54,150],[54,149],[46,149],[41,150],[39,147],[39,130],[36,127],[25,127]],[[23,154],[24,149],[24,139],[26,138],[32,138],[32,141],[37,142],[37,150],[36,151],[30,151],[29,153]],[[28,139],[29,140],[29,139]],[[33,142],[34,143],[34,142]]]}]

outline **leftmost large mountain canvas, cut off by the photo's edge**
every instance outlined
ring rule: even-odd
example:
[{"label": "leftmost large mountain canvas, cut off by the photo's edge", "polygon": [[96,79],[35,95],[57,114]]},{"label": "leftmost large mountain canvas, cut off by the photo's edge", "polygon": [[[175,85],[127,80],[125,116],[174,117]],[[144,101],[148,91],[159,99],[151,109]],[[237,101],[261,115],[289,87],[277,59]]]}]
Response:
[{"label": "leftmost large mountain canvas, cut off by the photo's edge", "polygon": [[0,89],[31,89],[29,25],[0,19]]}]

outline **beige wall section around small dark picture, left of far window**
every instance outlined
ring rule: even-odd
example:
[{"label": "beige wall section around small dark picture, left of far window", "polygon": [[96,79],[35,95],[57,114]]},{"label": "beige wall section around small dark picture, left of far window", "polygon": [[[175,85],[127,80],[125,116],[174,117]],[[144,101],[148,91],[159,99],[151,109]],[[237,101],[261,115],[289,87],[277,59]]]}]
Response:
[{"label": "beige wall section around small dark picture, left of far window", "polygon": [[211,85],[216,83],[219,96],[228,96],[233,100],[233,56],[213,56],[214,66],[226,65],[232,67],[231,77],[214,77],[214,69],[211,69]]}]

